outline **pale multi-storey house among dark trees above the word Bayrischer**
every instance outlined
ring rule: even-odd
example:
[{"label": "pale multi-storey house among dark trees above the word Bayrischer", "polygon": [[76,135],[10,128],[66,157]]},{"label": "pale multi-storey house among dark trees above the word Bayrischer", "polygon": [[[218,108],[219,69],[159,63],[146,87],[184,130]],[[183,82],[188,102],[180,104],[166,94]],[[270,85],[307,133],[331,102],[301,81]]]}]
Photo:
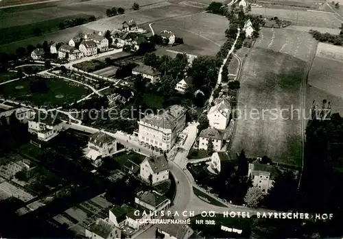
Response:
[{"label": "pale multi-storey house among dark trees above the word Bayrischer", "polygon": [[255,160],[249,164],[248,177],[252,179],[252,186],[260,188],[263,193],[268,194],[272,188],[274,180],[280,175],[276,166],[270,164],[261,164],[261,159]]}]

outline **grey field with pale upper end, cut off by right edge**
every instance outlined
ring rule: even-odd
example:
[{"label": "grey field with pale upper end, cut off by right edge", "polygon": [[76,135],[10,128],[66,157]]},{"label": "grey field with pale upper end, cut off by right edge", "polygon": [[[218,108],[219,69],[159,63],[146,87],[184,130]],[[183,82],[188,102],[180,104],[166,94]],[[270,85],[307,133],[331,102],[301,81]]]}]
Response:
[{"label": "grey field with pale upper end, cut off by right edge", "polygon": [[[313,100],[331,101],[332,111],[343,113],[343,51],[342,47],[320,42],[309,72],[309,105]],[[315,94],[316,93],[316,94]]]}]

